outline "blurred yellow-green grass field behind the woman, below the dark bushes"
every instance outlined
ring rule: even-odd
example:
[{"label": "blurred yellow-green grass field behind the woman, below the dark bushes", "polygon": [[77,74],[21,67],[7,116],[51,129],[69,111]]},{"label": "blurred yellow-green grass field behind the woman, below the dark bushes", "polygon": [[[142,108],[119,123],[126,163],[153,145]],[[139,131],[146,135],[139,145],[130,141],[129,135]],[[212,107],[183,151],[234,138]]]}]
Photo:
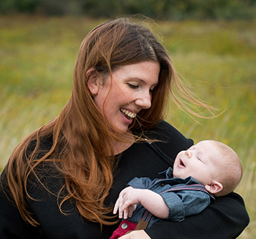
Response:
[{"label": "blurred yellow-green grass field behind the woman, below the dark bushes", "polygon": [[[59,114],[80,42],[101,22],[0,16],[0,171],[20,140]],[[216,114],[223,111],[198,123],[170,104],[167,120],[195,143],[212,138],[235,149],[244,168],[236,192],[251,218],[239,238],[256,238],[256,23],[157,23],[154,31],[192,92],[217,107]]]}]

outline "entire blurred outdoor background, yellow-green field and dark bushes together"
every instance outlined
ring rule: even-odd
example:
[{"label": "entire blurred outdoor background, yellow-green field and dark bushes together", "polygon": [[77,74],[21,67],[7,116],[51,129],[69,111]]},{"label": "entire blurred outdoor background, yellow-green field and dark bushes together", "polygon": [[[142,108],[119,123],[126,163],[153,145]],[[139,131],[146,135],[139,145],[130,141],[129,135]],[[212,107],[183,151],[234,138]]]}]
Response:
[{"label": "entire blurred outdoor background, yellow-green field and dark bushes together", "polygon": [[255,6],[252,0],[2,0],[0,171],[15,146],[69,99],[78,48],[91,28],[141,13],[155,20],[146,24],[190,90],[223,112],[196,122],[170,102],[167,121],[195,143],[212,138],[235,149],[244,168],[236,192],[251,218],[239,238],[256,238]]}]

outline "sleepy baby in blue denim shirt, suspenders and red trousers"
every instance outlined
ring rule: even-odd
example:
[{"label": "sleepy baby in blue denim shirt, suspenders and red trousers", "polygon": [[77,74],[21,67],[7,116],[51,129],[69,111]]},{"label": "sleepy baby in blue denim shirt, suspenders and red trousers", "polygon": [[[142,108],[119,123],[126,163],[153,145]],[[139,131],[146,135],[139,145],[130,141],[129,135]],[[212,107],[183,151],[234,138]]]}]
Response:
[{"label": "sleepy baby in blue denim shirt, suspenders and red trousers", "polygon": [[[113,213],[127,219],[110,239],[131,230],[150,227],[167,219],[181,222],[200,213],[211,200],[233,192],[241,181],[241,162],[236,152],[218,141],[200,141],[178,153],[166,179],[135,178],[116,201]],[[136,209],[136,210],[135,210]]]}]

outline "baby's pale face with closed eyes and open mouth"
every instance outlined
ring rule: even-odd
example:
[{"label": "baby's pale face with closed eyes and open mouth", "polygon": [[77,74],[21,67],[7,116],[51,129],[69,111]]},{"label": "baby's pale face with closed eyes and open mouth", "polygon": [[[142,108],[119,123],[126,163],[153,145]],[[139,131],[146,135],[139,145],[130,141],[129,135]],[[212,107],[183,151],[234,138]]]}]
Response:
[{"label": "baby's pale face with closed eyes and open mouth", "polygon": [[173,165],[173,176],[186,179],[192,176],[206,185],[215,180],[222,165],[222,155],[211,141],[200,141],[178,153]]}]

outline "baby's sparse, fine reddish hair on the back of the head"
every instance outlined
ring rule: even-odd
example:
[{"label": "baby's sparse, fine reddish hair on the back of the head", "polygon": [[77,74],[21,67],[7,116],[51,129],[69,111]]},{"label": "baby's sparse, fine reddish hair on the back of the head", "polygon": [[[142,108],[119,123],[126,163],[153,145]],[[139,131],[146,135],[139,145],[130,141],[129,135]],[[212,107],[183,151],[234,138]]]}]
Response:
[{"label": "baby's sparse, fine reddish hair on the back of the head", "polygon": [[221,197],[236,189],[241,181],[243,169],[238,154],[230,146],[219,141],[211,141],[211,143],[222,154],[223,163],[219,171],[219,182],[222,184],[223,189],[215,195]]}]

